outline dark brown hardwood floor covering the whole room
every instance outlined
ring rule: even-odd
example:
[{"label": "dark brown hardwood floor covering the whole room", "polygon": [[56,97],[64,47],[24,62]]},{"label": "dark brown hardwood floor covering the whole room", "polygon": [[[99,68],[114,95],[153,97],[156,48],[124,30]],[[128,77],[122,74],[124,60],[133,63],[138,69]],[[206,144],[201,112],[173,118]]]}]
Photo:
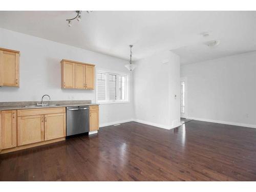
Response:
[{"label": "dark brown hardwood floor covering the whole room", "polygon": [[256,129],[137,122],[0,155],[2,181],[255,181]]}]

